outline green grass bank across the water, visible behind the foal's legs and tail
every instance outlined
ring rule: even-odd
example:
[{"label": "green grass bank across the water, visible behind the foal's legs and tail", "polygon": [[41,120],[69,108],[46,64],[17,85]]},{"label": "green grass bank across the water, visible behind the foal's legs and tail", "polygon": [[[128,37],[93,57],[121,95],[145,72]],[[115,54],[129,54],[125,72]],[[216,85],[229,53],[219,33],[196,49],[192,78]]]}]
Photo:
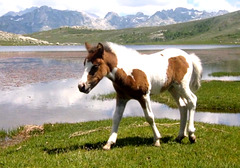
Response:
[{"label": "green grass bank across the water, visible behind the foal's legs and tail", "polygon": [[[197,91],[197,111],[240,112],[240,82],[203,81]],[[116,94],[99,95],[98,99],[113,99]],[[151,100],[172,108],[177,105],[168,92],[152,95]]]}]

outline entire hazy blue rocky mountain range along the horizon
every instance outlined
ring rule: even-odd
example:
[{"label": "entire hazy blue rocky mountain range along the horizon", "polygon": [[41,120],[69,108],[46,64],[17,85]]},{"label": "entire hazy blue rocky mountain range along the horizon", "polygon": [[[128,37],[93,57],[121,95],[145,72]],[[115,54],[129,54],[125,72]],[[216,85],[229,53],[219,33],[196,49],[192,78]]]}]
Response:
[{"label": "entire hazy blue rocky mountain range along the horizon", "polygon": [[152,16],[138,12],[135,15],[119,16],[108,12],[104,18],[85,12],[57,10],[47,6],[29,8],[20,12],[8,12],[0,17],[0,30],[28,34],[51,30],[63,26],[87,27],[92,29],[123,29],[148,27],[188,22],[214,17],[227,11],[205,12],[194,9],[176,8],[158,11]]}]

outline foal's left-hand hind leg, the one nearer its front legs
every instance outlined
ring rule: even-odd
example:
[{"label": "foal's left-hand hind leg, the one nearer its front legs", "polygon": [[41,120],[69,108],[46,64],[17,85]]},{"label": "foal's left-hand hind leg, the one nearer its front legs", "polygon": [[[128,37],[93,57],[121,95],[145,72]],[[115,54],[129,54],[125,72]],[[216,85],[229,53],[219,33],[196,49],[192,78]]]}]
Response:
[{"label": "foal's left-hand hind leg, the one nearer its front legs", "polygon": [[180,130],[176,141],[181,142],[184,137],[187,137],[187,105],[174,87],[171,87],[168,91],[175,99],[180,111]]}]

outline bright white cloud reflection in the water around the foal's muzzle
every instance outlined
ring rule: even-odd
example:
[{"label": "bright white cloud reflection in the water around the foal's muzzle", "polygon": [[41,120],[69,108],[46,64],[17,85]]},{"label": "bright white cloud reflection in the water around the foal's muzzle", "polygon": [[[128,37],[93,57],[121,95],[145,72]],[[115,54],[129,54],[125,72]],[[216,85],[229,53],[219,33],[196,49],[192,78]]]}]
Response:
[{"label": "bright white cloud reflection in the water around the foal's muzzle", "polygon": [[78,80],[76,79],[63,79],[30,84],[10,91],[0,91],[0,95],[3,97],[0,99],[0,104],[24,105],[30,109],[39,107],[54,109],[86,103],[84,100],[91,99],[93,95],[106,93],[101,89],[102,85],[109,87],[109,92],[113,91],[111,83],[106,79],[99,84],[100,89],[94,89],[90,94],[80,93],[77,84]]}]

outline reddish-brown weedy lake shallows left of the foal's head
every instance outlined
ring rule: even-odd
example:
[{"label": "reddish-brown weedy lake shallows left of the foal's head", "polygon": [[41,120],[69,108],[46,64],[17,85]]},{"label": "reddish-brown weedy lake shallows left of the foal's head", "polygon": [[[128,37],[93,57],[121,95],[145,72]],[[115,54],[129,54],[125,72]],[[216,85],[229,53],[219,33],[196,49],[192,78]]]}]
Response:
[{"label": "reddish-brown weedy lake shallows left of the foal's head", "polygon": [[80,77],[85,52],[0,53],[0,90]]}]

